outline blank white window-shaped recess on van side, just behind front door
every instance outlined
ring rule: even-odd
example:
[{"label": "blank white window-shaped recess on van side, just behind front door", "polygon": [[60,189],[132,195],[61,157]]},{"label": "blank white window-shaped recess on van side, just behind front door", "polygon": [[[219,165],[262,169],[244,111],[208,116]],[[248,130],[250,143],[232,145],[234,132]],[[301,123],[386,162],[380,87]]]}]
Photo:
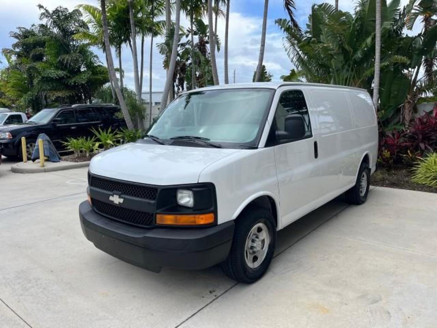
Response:
[{"label": "blank white window-shaped recess on van side, just behind front door", "polygon": [[353,128],[346,92],[329,89],[314,90],[311,96],[322,135],[348,131]]}]

